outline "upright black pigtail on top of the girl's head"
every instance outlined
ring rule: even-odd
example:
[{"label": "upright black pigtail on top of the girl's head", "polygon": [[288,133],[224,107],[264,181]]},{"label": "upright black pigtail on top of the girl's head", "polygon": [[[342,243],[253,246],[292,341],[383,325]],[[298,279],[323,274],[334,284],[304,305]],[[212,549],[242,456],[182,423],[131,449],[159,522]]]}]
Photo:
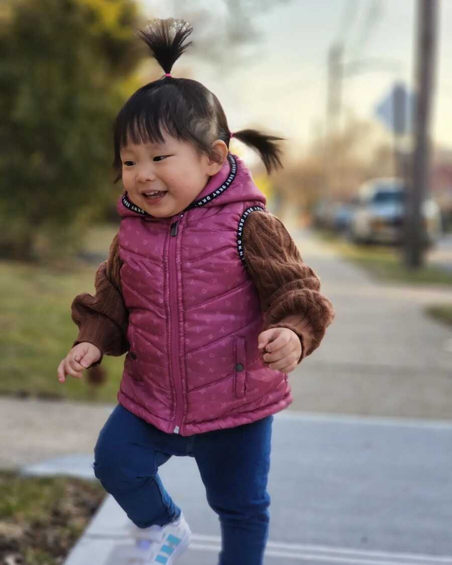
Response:
[{"label": "upright black pigtail on top of the girl's head", "polygon": [[192,41],[182,45],[192,31],[192,26],[184,20],[154,18],[144,30],[138,29],[137,35],[145,41],[160,67],[170,73],[176,60],[192,45]]}]

